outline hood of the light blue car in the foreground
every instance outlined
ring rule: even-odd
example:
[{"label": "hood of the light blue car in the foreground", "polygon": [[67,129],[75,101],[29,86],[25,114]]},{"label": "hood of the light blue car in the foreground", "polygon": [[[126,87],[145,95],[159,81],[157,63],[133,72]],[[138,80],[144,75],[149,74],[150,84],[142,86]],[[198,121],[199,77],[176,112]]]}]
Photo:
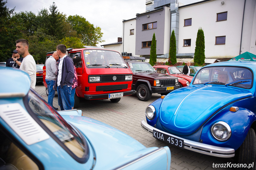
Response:
[{"label": "hood of the light blue car in the foreground", "polygon": [[137,140],[114,127],[84,116],[62,117],[77,127],[89,140],[96,156],[93,169],[115,169],[129,161],[158,149],[146,148]]}]

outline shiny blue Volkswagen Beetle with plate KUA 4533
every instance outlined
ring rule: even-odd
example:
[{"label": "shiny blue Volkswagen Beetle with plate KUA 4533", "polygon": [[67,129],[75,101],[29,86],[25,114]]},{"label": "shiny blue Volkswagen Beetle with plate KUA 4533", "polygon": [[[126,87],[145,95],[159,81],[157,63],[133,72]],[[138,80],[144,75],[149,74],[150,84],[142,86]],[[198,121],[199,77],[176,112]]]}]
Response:
[{"label": "shiny blue Volkswagen Beetle with plate KUA 4533", "polygon": [[189,86],[151,103],[141,126],[170,145],[255,165],[255,73],[249,61],[205,66]]}]

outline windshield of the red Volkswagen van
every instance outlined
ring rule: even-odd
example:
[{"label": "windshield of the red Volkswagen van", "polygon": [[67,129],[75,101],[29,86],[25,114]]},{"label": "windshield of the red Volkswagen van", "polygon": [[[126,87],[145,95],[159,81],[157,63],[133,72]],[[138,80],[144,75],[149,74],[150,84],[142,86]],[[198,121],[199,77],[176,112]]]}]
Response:
[{"label": "windshield of the red Volkswagen van", "polygon": [[127,68],[123,57],[115,51],[107,50],[84,50],[86,67],[118,67]]}]

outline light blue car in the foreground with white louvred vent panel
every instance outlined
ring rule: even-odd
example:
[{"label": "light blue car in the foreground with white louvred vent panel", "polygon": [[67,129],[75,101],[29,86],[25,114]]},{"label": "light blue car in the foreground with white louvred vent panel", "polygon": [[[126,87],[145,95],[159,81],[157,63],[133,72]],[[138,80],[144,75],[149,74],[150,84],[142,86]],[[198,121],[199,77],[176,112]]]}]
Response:
[{"label": "light blue car in the foreground with white louvred vent panel", "polygon": [[56,112],[26,72],[0,68],[0,170],[170,169],[168,147],[146,148],[80,110]]}]

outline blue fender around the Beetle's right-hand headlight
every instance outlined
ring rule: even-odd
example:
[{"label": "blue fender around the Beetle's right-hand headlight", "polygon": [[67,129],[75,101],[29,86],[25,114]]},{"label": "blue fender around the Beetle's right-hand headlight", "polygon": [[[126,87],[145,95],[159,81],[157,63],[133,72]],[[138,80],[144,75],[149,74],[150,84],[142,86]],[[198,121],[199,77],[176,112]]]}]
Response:
[{"label": "blue fender around the Beetle's right-hand headlight", "polygon": [[[203,143],[236,150],[244,142],[252,123],[256,120],[256,116],[248,109],[239,108],[236,112],[228,109],[217,114],[204,125],[200,138]],[[212,125],[218,121],[226,122],[231,128],[231,136],[224,142],[216,140],[211,133]]]}]

